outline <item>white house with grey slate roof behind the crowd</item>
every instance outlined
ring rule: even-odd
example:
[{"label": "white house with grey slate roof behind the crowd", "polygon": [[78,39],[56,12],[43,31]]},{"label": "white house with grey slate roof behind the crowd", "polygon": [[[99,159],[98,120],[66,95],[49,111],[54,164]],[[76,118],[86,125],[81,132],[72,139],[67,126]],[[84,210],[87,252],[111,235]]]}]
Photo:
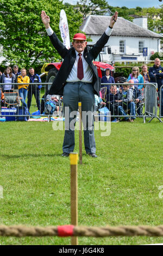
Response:
[{"label": "white house with grey slate roof behind the crowd", "polygon": [[[83,21],[80,29],[96,42],[104,33],[110,23],[110,16],[90,15]],[[106,47],[103,49],[103,61],[121,60],[122,62],[135,60],[149,60],[151,54],[160,52],[161,35],[147,29],[147,18],[139,17],[130,22],[118,17],[112,29],[108,44],[111,47],[111,54],[108,54]],[[143,52],[147,54],[143,56]]]}]

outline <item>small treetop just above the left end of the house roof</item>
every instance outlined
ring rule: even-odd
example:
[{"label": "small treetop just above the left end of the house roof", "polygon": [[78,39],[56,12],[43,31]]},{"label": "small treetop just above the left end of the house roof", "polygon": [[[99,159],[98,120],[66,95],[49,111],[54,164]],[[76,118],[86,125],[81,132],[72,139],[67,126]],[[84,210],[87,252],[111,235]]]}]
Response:
[{"label": "small treetop just above the left end of the house roof", "polygon": [[105,0],[79,0],[77,7],[82,13],[83,17],[87,15],[103,15],[109,7]]}]

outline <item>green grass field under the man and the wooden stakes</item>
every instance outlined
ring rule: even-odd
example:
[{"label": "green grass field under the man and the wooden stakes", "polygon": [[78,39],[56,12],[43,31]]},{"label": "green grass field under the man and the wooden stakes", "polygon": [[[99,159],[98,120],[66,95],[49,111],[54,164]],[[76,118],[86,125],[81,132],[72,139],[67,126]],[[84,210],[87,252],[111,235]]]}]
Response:
[{"label": "green grass field under the man and the wooden stakes", "polygon": [[[97,159],[78,164],[79,225],[160,225],[163,198],[162,124],[111,124],[95,132]],[[61,157],[64,131],[52,122],[0,123],[0,224],[70,224],[70,160]],[[78,131],[76,148],[78,152]],[[161,237],[79,237],[79,245],[142,245]],[[61,237],[0,237],[1,245],[70,245]]]}]

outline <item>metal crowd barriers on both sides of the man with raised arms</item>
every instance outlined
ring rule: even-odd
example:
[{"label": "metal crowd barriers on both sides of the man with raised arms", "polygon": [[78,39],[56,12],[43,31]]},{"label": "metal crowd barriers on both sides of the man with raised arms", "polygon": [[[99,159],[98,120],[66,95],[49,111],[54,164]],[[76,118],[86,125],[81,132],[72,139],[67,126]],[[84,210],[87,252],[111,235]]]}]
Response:
[{"label": "metal crowd barriers on both sides of the man with raised arms", "polygon": [[[13,86],[18,86],[18,84],[20,85],[20,83],[12,83]],[[21,83],[22,84],[27,84],[27,83]],[[35,85],[39,85],[40,83],[29,83],[29,85],[31,87],[34,87]],[[61,113],[62,112],[62,101],[61,101],[61,97],[59,95],[58,96],[58,106],[57,106],[57,111],[55,111],[55,113],[46,113],[46,109],[45,109],[45,102],[46,102],[46,92],[48,90],[48,86],[51,85],[52,83],[41,83],[42,88],[39,89],[39,95],[40,95],[40,113],[35,111],[36,113],[30,113],[30,114],[21,114],[22,117],[31,117],[33,115],[35,115],[35,117],[41,116],[42,117],[48,117],[48,121],[51,120],[51,117],[53,115],[58,115],[58,112]],[[135,102],[132,103],[132,106],[135,106],[135,114],[131,114],[131,106],[125,106],[124,104],[122,104],[122,108],[124,109],[124,111],[126,112],[126,115],[122,115],[122,113],[120,113],[120,103],[117,103],[117,106],[115,107],[114,104],[109,103],[108,109],[109,111],[111,111],[111,119],[113,118],[137,118],[137,117],[141,117],[143,118],[144,123],[146,123],[146,118],[151,118],[148,122],[150,122],[153,118],[158,118],[160,120],[160,122],[162,122],[162,120],[160,119],[163,115],[163,113],[159,114],[158,117],[158,93],[157,93],[157,84],[156,83],[142,83],[143,85],[145,85],[145,90],[143,91],[143,98],[141,100],[141,102],[139,102],[139,104],[136,104]],[[0,88],[2,87],[0,83]],[[123,83],[110,83],[109,86],[111,85],[116,85],[118,90],[120,90],[120,88],[122,87]],[[128,83],[128,85],[131,85],[131,83]],[[134,85],[138,85],[138,84],[134,84]],[[105,86],[108,86],[108,84],[102,83],[102,88],[101,88],[101,92],[103,93],[102,98],[104,99],[104,101],[106,101],[106,90],[104,89]],[[163,85],[160,88],[160,106],[161,106],[161,95],[163,94]],[[36,90],[36,87],[35,87]],[[21,99],[18,96],[18,89],[14,89],[12,91],[13,93],[15,93],[15,97],[17,97],[17,104],[13,103],[14,99],[13,97],[10,98],[8,100],[8,103],[4,103],[4,99],[2,99],[1,97],[1,115],[0,117],[11,117],[11,115],[14,115],[14,118],[20,117],[20,114],[16,114],[17,111],[15,109],[17,108],[21,108],[24,107],[24,104],[21,102]],[[162,94],[161,94],[162,93]],[[34,97],[34,95],[32,95]],[[44,97],[42,97],[44,96]],[[36,100],[35,100],[36,101]],[[109,99],[110,102],[110,99]],[[28,103],[28,99],[26,99],[26,103]],[[42,105],[44,106],[42,109]],[[107,106],[107,105],[106,105]],[[7,109],[5,108],[7,107]],[[10,109],[10,111],[9,111]],[[12,110],[11,110],[12,109]],[[14,110],[13,110],[14,109]],[[99,109],[101,109],[101,107],[99,107]],[[161,109],[161,108],[160,108]],[[14,113],[13,113],[14,112]],[[30,109],[29,109],[30,112]],[[32,111],[33,112],[33,111]],[[13,119],[14,119],[13,118]],[[162,122],[163,123],[163,122]]]}]

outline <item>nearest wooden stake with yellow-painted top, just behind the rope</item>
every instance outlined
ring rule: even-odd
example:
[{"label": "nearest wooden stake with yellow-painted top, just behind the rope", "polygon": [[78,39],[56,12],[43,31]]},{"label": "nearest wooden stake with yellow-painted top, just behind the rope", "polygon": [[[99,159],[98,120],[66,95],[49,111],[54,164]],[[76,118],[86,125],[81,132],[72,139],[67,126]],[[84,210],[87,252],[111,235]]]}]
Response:
[{"label": "nearest wooden stake with yellow-painted top, just behind the rope", "polygon": [[[71,166],[71,224],[78,225],[78,153],[70,153]],[[71,245],[78,245],[78,237],[71,237]]]}]

